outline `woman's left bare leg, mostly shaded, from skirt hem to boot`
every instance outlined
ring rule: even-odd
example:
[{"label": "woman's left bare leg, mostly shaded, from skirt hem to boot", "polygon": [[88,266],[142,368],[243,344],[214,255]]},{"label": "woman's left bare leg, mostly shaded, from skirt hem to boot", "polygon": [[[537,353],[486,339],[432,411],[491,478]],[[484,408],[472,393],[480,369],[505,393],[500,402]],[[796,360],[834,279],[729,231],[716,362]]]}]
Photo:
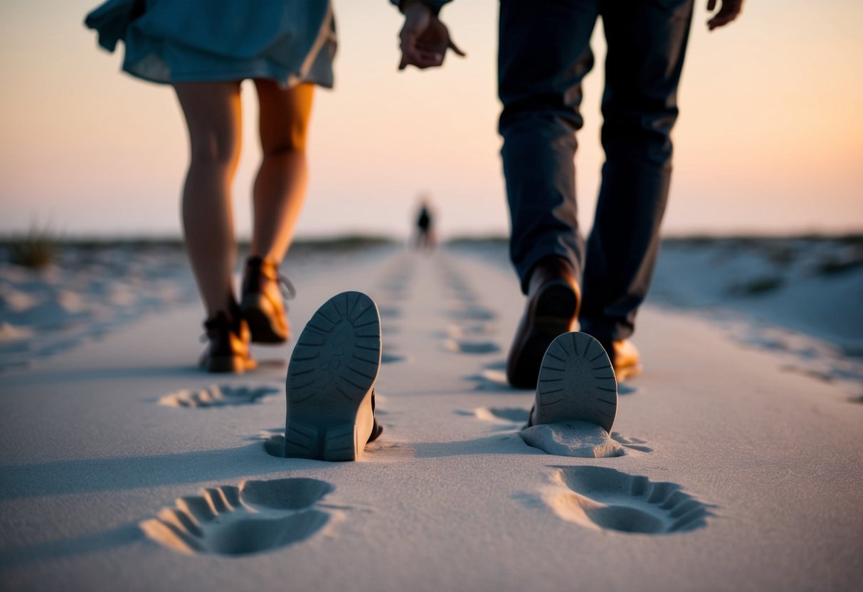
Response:
[{"label": "woman's left bare leg, mostly shaded, from skirt hem to boot", "polygon": [[189,128],[191,157],[183,187],[186,250],[207,316],[236,307],[231,183],[240,157],[240,83],[174,85]]}]

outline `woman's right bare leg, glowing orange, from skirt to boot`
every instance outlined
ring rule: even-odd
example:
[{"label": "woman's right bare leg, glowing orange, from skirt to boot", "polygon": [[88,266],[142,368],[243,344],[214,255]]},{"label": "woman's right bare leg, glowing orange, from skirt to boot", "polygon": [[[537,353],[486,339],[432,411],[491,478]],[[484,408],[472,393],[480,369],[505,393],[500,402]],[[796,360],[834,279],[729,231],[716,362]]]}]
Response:
[{"label": "woman's right bare leg, glowing orange, from skirt to boot", "polygon": [[314,85],[283,89],[272,80],[257,79],[255,87],[261,104],[263,161],[255,179],[250,255],[279,263],[306,198],[306,130]]}]

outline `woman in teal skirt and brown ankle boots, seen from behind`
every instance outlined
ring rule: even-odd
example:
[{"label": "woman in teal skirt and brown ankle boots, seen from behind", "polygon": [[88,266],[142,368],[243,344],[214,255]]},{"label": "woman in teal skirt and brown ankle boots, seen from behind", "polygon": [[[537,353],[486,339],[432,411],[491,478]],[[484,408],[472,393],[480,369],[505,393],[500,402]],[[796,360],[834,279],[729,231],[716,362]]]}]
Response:
[{"label": "woman in teal skirt and brown ankle boots, seen from behind", "polygon": [[[249,341],[282,343],[289,326],[279,265],[306,198],[306,132],[314,85],[332,87],[336,31],[330,0],[110,0],[86,25],[123,70],[173,85],[191,158],[183,186],[186,249],[204,300],[210,372],[255,368]],[[263,160],[253,189],[251,252],[239,299],[231,185],[240,156],[240,83],[255,82]]]}]

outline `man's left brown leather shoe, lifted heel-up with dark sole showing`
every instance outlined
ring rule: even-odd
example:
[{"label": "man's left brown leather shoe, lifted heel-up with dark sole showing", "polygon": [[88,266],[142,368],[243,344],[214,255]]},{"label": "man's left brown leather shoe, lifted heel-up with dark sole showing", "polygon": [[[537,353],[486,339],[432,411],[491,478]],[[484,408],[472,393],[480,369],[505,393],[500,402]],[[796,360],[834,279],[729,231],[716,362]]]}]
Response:
[{"label": "man's left brown leather shoe, lifted heel-up with dark sole showing", "polygon": [[507,380],[535,388],[539,365],[555,337],[572,330],[581,295],[570,262],[552,256],[539,261],[528,282],[527,305],[507,357]]}]

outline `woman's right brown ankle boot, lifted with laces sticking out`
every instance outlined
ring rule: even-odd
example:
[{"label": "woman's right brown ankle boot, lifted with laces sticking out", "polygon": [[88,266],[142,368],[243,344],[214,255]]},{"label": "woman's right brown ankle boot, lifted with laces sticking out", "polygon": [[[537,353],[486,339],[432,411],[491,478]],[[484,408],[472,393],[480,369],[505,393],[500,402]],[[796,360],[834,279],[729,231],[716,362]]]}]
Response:
[{"label": "woman's right brown ankle boot, lifted with laces sticking out", "polygon": [[243,274],[240,311],[253,343],[285,343],[290,334],[275,261],[249,257]]}]

